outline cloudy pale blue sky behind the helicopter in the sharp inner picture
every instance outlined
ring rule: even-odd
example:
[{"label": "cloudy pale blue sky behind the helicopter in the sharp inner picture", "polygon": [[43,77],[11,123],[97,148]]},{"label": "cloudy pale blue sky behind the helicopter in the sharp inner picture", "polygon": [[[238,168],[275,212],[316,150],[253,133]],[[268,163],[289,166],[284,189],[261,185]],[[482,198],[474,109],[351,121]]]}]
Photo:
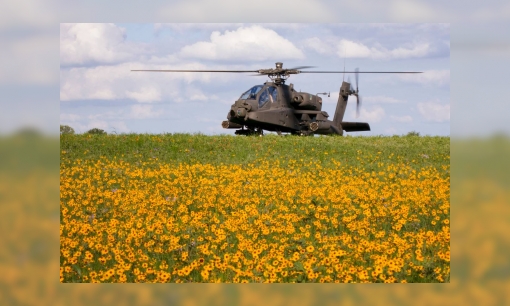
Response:
[{"label": "cloudy pale blue sky behind the helicopter in the sharp inner picture", "polygon": [[[228,73],[154,73],[131,69],[421,71],[361,74],[345,121],[368,122],[350,135],[450,135],[448,23],[61,23],[60,124],[83,133],[233,134],[221,127],[230,105],[267,77]],[[293,75],[287,84],[323,96],[332,117],[342,79]]]}]

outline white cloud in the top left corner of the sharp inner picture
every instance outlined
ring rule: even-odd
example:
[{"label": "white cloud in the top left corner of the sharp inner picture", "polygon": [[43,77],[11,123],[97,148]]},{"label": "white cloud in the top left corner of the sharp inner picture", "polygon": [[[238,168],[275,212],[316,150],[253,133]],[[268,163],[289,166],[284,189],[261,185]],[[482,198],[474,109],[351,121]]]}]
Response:
[{"label": "white cloud in the top left corner of the sharp inner picture", "polygon": [[142,44],[127,42],[125,30],[111,23],[60,25],[60,62],[64,65],[118,63],[142,51]]}]

